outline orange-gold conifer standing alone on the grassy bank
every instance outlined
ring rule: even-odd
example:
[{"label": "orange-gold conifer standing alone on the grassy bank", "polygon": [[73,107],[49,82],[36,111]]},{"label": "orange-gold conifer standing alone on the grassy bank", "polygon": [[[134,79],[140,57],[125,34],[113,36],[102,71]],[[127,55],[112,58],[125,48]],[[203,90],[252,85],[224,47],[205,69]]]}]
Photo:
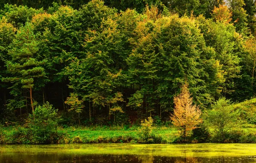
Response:
[{"label": "orange-gold conifer standing alone on the grassy bank", "polygon": [[201,110],[193,104],[188,85],[183,85],[181,93],[174,97],[174,113],[171,115],[172,123],[180,128],[182,136],[186,138],[189,131],[197,128],[197,125],[202,123],[200,116]]}]

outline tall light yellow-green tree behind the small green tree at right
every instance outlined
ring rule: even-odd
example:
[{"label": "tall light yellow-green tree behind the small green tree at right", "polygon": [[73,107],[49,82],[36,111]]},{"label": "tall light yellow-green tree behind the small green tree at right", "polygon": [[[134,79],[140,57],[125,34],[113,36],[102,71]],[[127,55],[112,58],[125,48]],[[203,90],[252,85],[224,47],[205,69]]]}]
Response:
[{"label": "tall light yellow-green tree behind the small green tree at right", "polygon": [[[243,37],[236,33],[232,24],[213,22],[199,16],[199,29],[204,36],[207,46],[214,49],[214,59],[221,66],[219,75],[222,76],[219,91],[228,97],[235,91],[235,81],[240,78],[241,56],[244,54]],[[216,97],[219,97],[216,94]]]}]

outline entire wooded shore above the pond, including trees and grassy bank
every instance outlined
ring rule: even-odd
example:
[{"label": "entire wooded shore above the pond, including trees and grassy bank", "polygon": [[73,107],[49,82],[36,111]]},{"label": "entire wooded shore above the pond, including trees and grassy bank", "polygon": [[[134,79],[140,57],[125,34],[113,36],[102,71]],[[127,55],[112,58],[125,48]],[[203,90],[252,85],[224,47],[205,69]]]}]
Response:
[{"label": "entire wooded shore above the pond, including trees and grassy bank", "polygon": [[256,142],[255,36],[254,0],[1,0],[0,144]]}]

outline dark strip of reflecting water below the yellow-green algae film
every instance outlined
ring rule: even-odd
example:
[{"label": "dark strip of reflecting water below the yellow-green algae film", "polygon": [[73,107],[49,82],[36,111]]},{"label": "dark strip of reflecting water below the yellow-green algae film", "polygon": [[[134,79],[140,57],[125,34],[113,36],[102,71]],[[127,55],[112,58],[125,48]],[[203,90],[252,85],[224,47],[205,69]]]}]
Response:
[{"label": "dark strip of reflecting water below the yellow-green algae film", "polygon": [[140,155],[2,154],[1,163],[256,163],[256,157],[166,157]]}]

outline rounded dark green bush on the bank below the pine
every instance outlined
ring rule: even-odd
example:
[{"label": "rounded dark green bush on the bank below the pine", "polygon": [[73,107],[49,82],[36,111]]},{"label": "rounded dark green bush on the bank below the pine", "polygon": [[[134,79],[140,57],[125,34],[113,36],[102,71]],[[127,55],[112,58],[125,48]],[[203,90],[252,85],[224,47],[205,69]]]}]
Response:
[{"label": "rounded dark green bush on the bank below the pine", "polygon": [[47,102],[43,106],[36,107],[34,116],[30,115],[29,127],[33,134],[34,143],[52,143],[57,138],[57,127],[60,120],[57,111]]}]

